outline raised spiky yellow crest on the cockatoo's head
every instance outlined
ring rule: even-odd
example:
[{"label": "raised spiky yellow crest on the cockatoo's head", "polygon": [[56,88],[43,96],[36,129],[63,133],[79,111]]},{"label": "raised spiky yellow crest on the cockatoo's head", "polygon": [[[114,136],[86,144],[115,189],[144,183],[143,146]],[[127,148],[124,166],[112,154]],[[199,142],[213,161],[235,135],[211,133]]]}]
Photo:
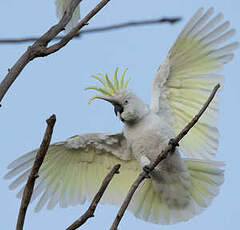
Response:
[{"label": "raised spiky yellow crest on the cockatoo's head", "polygon": [[[111,75],[113,81],[109,79],[107,74],[99,73],[98,76],[92,75],[92,78],[97,79],[103,87],[95,87],[90,86],[87,87],[85,90],[93,89],[100,93],[102,93],[105,96],[113,96],[118,93],[119,90],[125,89],[128,86],[128,82],[130,81],[130,78],[128,78],[126,81],[124,81],[125,73],[127,72],[127,68],[123,70],[123,73],[120,76],[120,80],[118,80],[118,67],[115,69],[115,72],[113,75]],[[95,98],[101,98],[101,95],[95,95],[89,99],[89,104],[95,99]]]}]

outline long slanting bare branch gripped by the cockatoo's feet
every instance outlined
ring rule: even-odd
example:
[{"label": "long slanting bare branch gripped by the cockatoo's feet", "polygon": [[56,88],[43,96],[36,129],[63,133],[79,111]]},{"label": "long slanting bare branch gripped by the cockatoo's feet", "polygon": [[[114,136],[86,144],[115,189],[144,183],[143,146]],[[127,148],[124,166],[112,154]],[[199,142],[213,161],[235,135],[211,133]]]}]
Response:
[{"label": "long slanting bare branch gripped by the cockatoo's feet", "polygon": [[134,192],[136,191],[136,189],[138,188],[138,186],[140,185],[140,183],[146,179],[149,178],[149,173],[152,172],[152,170],[164,159],[167,158],[168,154],[171,152],[174,152],[176,146],[178,146],[178,143],[182,140],[182,138],[188,133],[188,131],[197,123],[197,121],[199,120],[199,118],[202,116],[202,114],[205,112],[205,110],[207,109],[207,107],[209,106],[210,102],[213,100],[217,90],[220,88],[220,85],[217,84],[214,89],[212,90],[211,95],[208,97],[207,101],[205,102],[205,104],[203,105],[203,107],[201,108],[201,110],[198,112],[198,114],[184,127],[184,129],[176,136],[176,138],[171,139],[169,141],[168,146],[158,155],[157,159],[152,162],[147,168],[148,171],[143,171],[138,178],[135,180],[135,182],[132,184],[130,190],[128,191],[128,194],[124,200],[124,202],[122,203],[121,208],[119,209],[117,216],[110,228],[110,230],[117,230],[117,227],[131,201],[131,198],[134,194]]}]

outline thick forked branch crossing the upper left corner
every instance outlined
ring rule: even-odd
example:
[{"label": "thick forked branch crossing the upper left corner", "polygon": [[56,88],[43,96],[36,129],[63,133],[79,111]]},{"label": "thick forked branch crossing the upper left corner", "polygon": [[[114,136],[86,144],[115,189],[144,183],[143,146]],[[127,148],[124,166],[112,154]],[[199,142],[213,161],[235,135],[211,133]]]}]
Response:
[{"label": "thick forked branch crossing the upper left corner", "polygon": [[74,37],[74,35],[82,27],[87,25],[88,21],[94,15],[96,15],[110,0],[102,0],[80,21],[80,23],[76,27],[74,27],[68,34],[66,34],[59,42],[53,44],[50,47],[47,47],[49,42],[52,41],[62,30],[64,30],[67,23],[71,20],[73,11],[78,6],[80,1],[81,0],[72,0],[72,2],[70,3],[70,7],[64,13],[59,23],[51,27],[45,34],[43,34],[39,39],[37,39],[32,46],[29,46],[25,53],[13,65],[13,67],[8,70],[8,74],[5,76],[4,80],[0,84],[0,102],[2,101],[9,87],[12,85],[12,83],[16,80],[18,75],[23,70],[23,68],[30,61],[37,57],[45,57],[65,46]]}]

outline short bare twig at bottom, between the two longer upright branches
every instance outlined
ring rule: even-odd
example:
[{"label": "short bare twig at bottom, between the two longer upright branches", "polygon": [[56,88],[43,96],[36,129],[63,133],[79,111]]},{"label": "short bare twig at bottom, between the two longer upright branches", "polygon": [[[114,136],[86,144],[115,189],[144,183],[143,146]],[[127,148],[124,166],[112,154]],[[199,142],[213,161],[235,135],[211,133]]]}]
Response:
[{"label": "short bare twig at bottom, between the two longer upright branches", "polygon": [[107,174],[105,179],[102,182],[100,189],[98,190],[97,194],[94,196],[91,205],[89,206],[88,210],[79,218],[77,219],[71,226],[69,226],[66,230],[75,230],[78,227],[82,226],[89,218],[94,217],[95,209],[102,198],[108,184],[112,180],[113,176],[119,173],[119,168],[121,167],[120,164],[115,165],[112,170]]}]

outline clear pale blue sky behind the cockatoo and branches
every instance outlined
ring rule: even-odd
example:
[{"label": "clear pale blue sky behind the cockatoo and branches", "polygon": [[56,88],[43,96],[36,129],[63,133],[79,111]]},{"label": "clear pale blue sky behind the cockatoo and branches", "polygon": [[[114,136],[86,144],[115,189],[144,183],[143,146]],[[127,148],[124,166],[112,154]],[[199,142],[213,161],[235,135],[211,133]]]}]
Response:
[{"label": "clear pale blue sky behind the cockatoo and branches", "polygon": [[[99,1],[83,0],[84,16]],[[151,82],[159,64],[186,21],[199,7],[214,6],[223,12],[237,29],[234,37],[240,40],[239,9],[236,0],[169,0],[139,1],[112,0],[90,22],[87,28],[131,20],[181,16],[177,24],[151,25],[98,34],[83,35],[71,41],[59,52],[33,60],[21,72],[2,101],[0,109],[0,213],[1,226],[14,229],[20,200],[16,191],[9,191],[9,181],[3,179],[7,165],[21,154],[40,145],[45,120],[57,116],[52,143],[86,132],[117,132],[122,124],[115,117],[111,105],[96,101],[88,105],[92,94],[84,88],[94,81],[89,77],[99,72],[112,73],[118,66],[128,67],[129,88],[146,103],[150,102]],[[54,0],[1,1],[0,38],[38,36],[57,22]],[[29,44],[0,44],[0,80]],[[233,229],[239,225],[239,116],[240,116],[240,51],[224,69],[226,82],[221,95],[219,129],[221,133],[217,160],[225,161],[225,182],[211,206],[201,215],[177,225],[159,226],[136,219],[130,212],[124,216],[119,229]],[[82,206],[34,213],[30,204],[25,229],[64,229],[78,218],[89,203]],[[99,205],[95,217],[81,229],[108,229],[118,211],[117,207]]]}]

